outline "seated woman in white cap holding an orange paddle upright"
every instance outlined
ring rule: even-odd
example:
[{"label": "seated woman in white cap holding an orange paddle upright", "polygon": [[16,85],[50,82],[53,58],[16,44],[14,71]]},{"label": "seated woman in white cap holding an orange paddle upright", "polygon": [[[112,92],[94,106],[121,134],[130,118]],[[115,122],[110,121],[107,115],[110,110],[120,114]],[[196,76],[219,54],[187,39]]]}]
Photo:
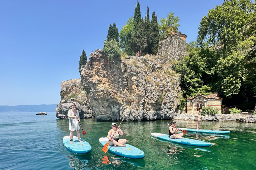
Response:
[{"label": "seated woman in white cap holding an orange paddle upright", "polygon": [[109,145],[118,145],[118,146],[126,146],[126,139],[119,139],[119,134],[123,135],[124,132],[120,129],[120,126],[116,129],[116,124],[112,123],[112,129],[110,129],[108,131],[108,138],[111,139],[111,137],[113,136],[113,138],[111,139],[111,141],[109,142]]}]

